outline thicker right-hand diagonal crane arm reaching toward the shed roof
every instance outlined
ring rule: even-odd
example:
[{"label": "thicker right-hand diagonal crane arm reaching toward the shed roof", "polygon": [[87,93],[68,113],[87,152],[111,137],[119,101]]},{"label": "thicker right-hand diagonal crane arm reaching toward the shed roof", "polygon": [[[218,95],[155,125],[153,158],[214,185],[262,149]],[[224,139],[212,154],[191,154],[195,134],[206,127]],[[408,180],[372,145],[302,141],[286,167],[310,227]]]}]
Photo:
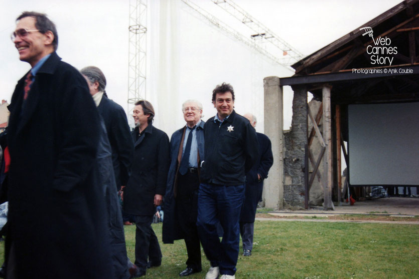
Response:
[{"label": "thicker right-hand diagonal crane arm reaching toward the shed roof", "polygon": [[254,31],[256,34],[252,35],[253,38],[260,37],[263,40],[256,40],[255,43],[260,45],[263,41],[269,42],[274,47],[282,52],[283,58],[281,64],[284,66],[290,66],[295,62],[300,61],[304,58],[303,54],[293,48],[286,41],[281,39],[271,30],[269,30],[262,23],[257,21],[255,18],[246,13],[242,8],[235,4],[231,0],[211,0],[218,7],[226,11],[228,14],[239,20],[249,29]]}]

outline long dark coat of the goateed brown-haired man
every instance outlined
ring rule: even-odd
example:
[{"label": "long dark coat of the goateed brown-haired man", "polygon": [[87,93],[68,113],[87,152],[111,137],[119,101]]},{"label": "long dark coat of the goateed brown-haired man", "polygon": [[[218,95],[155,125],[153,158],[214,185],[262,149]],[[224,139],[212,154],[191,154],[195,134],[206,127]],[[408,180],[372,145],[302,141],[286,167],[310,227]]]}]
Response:
[{"label": "long dark coat of the goateed brown-haired man", "polygon": [[154,196],[164,196],[166,192],[170,143],[167,134],[152,124],[143,133],[136,140],[138,127],[131,132],[134,158],[131,176],[124,188],[123,210],[127,214],[152,216],[156,213]]}]

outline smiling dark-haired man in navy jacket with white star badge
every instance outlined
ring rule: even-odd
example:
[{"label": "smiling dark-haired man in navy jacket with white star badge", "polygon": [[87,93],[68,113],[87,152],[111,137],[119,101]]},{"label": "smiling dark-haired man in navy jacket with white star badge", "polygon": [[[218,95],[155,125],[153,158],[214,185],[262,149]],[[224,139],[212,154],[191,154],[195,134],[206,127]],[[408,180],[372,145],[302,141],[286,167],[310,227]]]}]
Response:
[{"label": "smiling dark-haired man in navy jacket with white star badge", "polygon": [[[205,160],[198,193],[198,233],[211,267],[206,279],[234,278],[245,173],[258,157],[256,132],[234,110],[234,90],[218,85],[212,94],[217,114],[204,127]],[[217,234],[220,222],[224,234]]]}]

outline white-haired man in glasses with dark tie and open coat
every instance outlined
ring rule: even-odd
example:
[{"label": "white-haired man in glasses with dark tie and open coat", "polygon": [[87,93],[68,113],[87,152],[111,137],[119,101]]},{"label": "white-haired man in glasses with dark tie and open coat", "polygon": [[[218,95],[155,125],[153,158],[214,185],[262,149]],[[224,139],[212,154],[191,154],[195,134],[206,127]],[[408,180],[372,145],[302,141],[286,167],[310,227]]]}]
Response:
[{"label": "white-haired man in glasses with dark tie and open coat", "polygon": [[179,275],[188,276],[202,270],[196,217],[205,122],[201,120],[202,104],[196,100],[183,103],[182,112],[186,126],[174,132],[170,140],[172,160],[165,195],[163,242],[185,239],[188,259],[186,269]]}]

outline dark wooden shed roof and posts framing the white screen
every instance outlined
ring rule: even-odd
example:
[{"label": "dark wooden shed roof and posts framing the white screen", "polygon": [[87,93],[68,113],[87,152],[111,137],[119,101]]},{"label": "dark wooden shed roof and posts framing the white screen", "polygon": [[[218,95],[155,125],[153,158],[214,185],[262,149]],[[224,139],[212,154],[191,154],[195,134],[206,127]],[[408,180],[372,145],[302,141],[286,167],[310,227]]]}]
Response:
[{"label": "dark wooden shed roof and posts framing the white screen", "polygon": [[[292,127],[306,129],[307,134],[304,158],[299,158],[306,166],[301,174],[305,181],[305,206],[308,207],[309,189],[317,175],[324,185],[324,207],[333,209],[332,196],[340,201],[342,193],[341,148],[348,160],[343,145],[343,141],[348,141],[348,105],[419,102],[419,1],[398,4],[292,67],[296,71],[294,76],[279,79],[277,86],[281,93],[283,86],[291,86],[294,99],[305,98],[307,103],[307,92],[311,92],[322,101],[318,112],[311,112],[308,106],[300,112],[299,117],[306,119],[305,127],[294,123]],[[266,86],[265,79],[265,104],[271,102]],[[272,113],[265,107],[265,119],[274,118]],[[321,116],[322,134],[316,125]],[[418,118],[419,113],[415,118],[417,125]],[[307,130],[308,121],[315,124],[312,131]],[[318,158],[310,151],[315,133],[321,136],[323,146]],[[321,163],[325,172],[316,173]]]}]

